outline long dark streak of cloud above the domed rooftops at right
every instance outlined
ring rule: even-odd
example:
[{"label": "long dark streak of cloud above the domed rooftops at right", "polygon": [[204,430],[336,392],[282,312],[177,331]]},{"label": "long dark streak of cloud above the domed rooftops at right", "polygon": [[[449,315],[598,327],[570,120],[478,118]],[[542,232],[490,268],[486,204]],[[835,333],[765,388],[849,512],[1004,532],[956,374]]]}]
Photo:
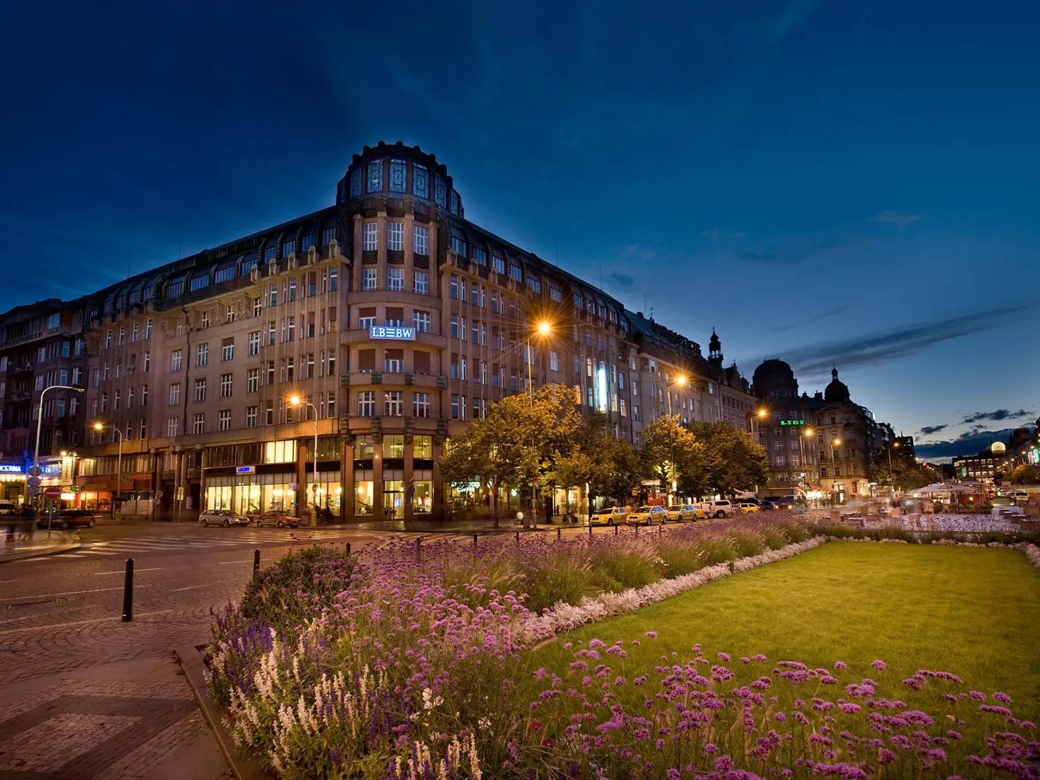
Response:
[{"label": "long dark streak of cloud above the domed rooftops at right", "polygon": [[916,355],[933,344],[1012,324],[1035,312],[1036,303],[963,314],[883,331],[864,338],[824,341],[796,349],[788,362],[799,374],[824,376],[834,365],[842,368],[888,363]]}]

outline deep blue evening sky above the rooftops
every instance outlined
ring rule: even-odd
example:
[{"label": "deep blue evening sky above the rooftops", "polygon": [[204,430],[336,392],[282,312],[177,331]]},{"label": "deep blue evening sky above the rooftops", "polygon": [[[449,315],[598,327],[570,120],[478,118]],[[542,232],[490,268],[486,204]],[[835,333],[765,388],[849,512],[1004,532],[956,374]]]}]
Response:
[{"label": "deep blue evening sky above the rooftops", "polygon": [[329,205],[401,139],[469,218],[716,327],[749,376],[777,356],[812,392],[836,364],[953,442],[926,452],[974,451],[1040,413],[1038,24],[1024,0],[6,3],[0,309]]}]

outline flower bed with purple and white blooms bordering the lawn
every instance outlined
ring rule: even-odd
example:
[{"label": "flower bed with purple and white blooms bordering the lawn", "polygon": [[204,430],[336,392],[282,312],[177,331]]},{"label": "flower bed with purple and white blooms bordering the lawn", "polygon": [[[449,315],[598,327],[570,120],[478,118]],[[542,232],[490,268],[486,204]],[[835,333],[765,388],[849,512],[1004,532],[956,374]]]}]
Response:
[{"label": "flower bed with purple and white blooms bordering the lawn", "polygon": [[[900,683],[840,667],[708,662],[695,647],[629,668],[651,635],[565,645],[560,668],[528,667],[556,631],[789,556],[812,532],[781,518],[353,558],[311,548],[216,617],[212,692],[239,748],[292,778],[948,774],[946,714],[994,734],[973,754],[987,772],[1035,760],[1031,724],[924,670],[908,690],[950,712],[913,714]],[[859,687],[825,687],[839,680]]]}]

